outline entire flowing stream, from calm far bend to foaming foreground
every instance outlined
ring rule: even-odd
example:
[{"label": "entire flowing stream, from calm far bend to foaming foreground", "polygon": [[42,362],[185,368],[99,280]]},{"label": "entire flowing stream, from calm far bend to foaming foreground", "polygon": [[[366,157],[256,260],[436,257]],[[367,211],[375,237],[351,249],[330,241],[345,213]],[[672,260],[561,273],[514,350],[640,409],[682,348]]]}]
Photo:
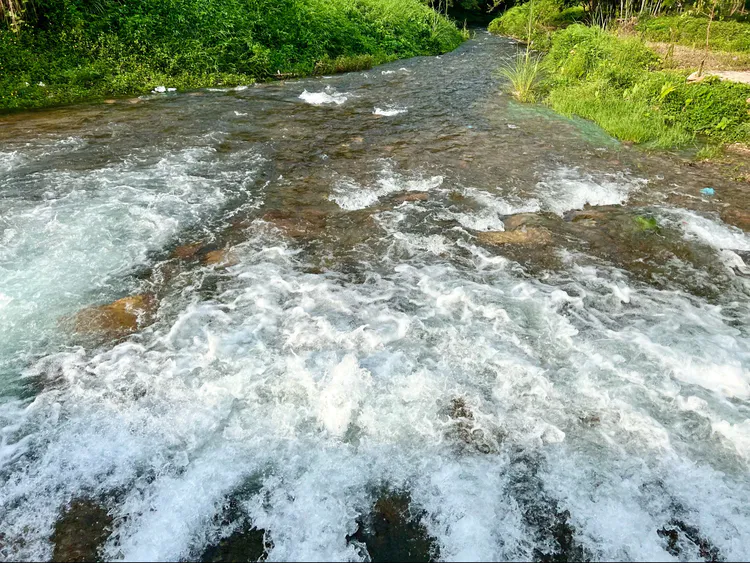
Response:
[{"label": "entire flowing stream, from calm far bend to foaming foreground", "polygon": [[0,118],[0,557],[750,557],[747,184],[515,50]]}]

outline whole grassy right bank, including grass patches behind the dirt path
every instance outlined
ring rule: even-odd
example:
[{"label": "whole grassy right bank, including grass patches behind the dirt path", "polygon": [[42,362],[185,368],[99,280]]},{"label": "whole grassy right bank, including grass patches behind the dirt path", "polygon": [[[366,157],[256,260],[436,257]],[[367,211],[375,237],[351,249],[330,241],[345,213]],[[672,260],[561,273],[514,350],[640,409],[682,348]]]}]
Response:
[{"label": "whole grassy right bank, including grass patches behind the dirt path", "polygon": [[[532,15],[529,34],[528,5],[506,12],[491,30],[524,40],[531,35],[532,47],[546,52],[532,89],[556,111],[590,119],[614,137],[652,147],[683,147],[699,139],[706,143],[702,156],[716,154],[725,144],[750,142],[750,85],[712,78],[688,83],[687,76],[706,56],[701,49],[690,48],[682,60],[675,60],[674,43],[700,47],[702,38],[705,44],[706,18],[681,17],[692,27],[682,26],[678,34],[669,18],[639,22],[636,29],[652,41],[669,34],[672,45],[659,56],[632,34],[570,25],[571,9],[551,0],[534,1],[539,15]],[[725,58],[740,66],[742,57],[750,54],[748,34],[750,24],[714,21],[709,46],[734,49]]]}]

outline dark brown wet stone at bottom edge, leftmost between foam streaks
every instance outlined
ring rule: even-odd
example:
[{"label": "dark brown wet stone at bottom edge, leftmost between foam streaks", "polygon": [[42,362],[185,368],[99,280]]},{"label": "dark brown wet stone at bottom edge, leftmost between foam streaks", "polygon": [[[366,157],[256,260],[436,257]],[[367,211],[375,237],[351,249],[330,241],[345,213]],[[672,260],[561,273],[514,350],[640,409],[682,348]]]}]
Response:
[{"label": "dark brown wet stone at bottom edge, leftmost between foam streaks", "polygon": [[103,561],[101,550],[112,532],[112,516],[92,500],[75,500],[55,523],[52,561]]}]

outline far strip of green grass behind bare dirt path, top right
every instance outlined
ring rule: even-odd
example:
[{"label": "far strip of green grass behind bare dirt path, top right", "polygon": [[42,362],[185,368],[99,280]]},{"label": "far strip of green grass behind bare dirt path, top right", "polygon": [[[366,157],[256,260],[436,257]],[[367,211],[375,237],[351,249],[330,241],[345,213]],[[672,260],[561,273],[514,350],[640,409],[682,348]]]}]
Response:
[{"label": "far strip of green grass behind bare dirt path, top right", "polygon": [[[645,18],[636,30],[646,41],[677,43],[703,48],[706,44],[708,18],[683,14]],[[750,23],[714,21],[711,24],[709,48],[717,51],[750,52]]]}]

